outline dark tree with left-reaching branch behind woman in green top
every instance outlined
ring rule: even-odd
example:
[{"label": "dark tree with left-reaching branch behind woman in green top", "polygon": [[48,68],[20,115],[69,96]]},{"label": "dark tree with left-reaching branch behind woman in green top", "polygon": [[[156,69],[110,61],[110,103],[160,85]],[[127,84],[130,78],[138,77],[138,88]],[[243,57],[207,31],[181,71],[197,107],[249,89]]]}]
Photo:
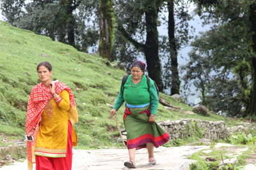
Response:
[{"label": "dark tree with left-reaching branch behind woman in green top", "polygon": [[[122,32],[122,35],[134,46],[136,46],[138,50],[144,53],[147,61],[148,76],[156,81],[159,87],[159,91],[163,92],[163,81],[161,78],[161,62],[159,59],[159,43],[157,32],[157,18],[161,1],[146,0],[142,3],[144,8],[140,10],[143,11],[141,12],[141,15],[145,14],[145,43],[140,43],[136,41],[136,39],[132,38],[132,36],[128,34],[127,31],[125,31],[124,25],[120,24],[120,22],[118,22],[118,30]],[[136,7],[133,7],[135,8],[134,10],[136,10]]]}]

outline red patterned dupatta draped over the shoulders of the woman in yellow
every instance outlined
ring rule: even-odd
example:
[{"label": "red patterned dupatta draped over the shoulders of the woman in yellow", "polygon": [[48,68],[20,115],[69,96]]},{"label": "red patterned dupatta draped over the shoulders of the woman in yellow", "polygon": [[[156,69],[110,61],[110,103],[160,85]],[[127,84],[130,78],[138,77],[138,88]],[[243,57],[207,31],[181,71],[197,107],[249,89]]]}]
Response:
[{"label": "red patterned dupatta draped over the shoulders of the woman in yellow", "polygon": [[[72,94],[71,89],[67,85],[61,83],[60,81],[57,81],[55,83],[55,86],[56,94],[60,94],[62,90],[68,91],[70,98],[70,110],[68,110],[68,115],[70,118],[70,122],[72,124],[75,124],[76,122],[78,122],[78,115],[76,110],[74,94]],[[42,83],[38,83],[31,90],[27,108],[26,134],[29,134],[29,132],[34,131],[34,141],[27,141],[28,169],[32,169],[32,163],[35,162],[35,155],[33,152],[35,150],[36,134],[39,129],[38,123],[41,121],[41,116],[45,106],[51,99],[52,94],[49,88],[45,87]]]}]

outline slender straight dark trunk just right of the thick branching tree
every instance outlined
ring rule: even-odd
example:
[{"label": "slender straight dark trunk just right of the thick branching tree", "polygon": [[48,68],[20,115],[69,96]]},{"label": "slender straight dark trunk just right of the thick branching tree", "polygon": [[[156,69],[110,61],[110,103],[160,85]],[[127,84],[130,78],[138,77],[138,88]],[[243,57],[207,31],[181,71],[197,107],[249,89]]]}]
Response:
[{"label": "slender straight dark trunk just right of the thick branching tree", "polygon": [[168,3],[168,36],[170,43],[171,71],[172,71],[172,87],[171,95],[180,93],[180,80],[178,71],[177,48],[175,42],[175,20],[174,20],[174,0]]}]

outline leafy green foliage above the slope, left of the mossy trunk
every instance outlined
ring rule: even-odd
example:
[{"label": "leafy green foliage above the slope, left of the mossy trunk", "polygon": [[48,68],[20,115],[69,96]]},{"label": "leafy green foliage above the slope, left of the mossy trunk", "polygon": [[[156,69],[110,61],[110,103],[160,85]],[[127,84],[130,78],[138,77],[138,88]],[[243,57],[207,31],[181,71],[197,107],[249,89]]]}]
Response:
[{"label": "leafy green foliage above the slope, left of the mossy trunk", "polygon": [[[99,38],[97,27],[88,24],[92,21],[92,15],[95,15],[93,12],[97,13],[96,7],[97,1],[87,0],[1,2],[1,9],[8,23],[86,52],[89,46],[96,45]],[[97,18],[93,21],[97,22]]]}]

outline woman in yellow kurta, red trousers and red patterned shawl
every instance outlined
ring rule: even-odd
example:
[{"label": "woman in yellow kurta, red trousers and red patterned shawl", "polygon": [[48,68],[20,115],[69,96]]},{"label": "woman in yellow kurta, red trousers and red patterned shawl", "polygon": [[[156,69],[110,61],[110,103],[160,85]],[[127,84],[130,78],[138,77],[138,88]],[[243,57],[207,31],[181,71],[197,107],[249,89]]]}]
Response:
[{"label": "woman in yellow kurta, red trousers and red patterned shawl", "polygon": [[64,83],[51,80],[49,62],[36,69],[41,83],[31,90],[26,118],[26,134],[34,138],[27,143],[29,169],[36,162],[36,170],[70,170],[72,146],[77,143],[74,95]]}]

